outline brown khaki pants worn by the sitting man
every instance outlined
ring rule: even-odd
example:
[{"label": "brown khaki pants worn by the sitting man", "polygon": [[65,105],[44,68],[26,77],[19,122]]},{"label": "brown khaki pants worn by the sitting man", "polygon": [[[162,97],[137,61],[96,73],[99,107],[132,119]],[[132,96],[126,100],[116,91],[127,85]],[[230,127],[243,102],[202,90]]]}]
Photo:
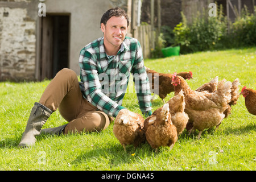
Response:
[{"label": "brown khaki pants worn by the sitting man", "polygon": [[61,116],[69,123],[64,134],[69,132],[101,131],[110,123],[110,117],[90,104],[79,87],[77,75],[71,69],[64,68],[49,83],[39,101],[52,111],[59,108]]}]

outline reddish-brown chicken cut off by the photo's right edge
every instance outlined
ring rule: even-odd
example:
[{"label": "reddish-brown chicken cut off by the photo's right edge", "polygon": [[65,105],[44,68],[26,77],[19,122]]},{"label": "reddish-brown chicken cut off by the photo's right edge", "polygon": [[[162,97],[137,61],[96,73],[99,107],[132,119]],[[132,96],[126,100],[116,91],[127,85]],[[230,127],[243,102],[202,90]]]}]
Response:
[{"label": "reddish-brown chicken cut off by the photo's right edge", "polygon": [[256,90],[243,86],[240,94],[245,97],[245,106],[248,112],[256,115]]}]

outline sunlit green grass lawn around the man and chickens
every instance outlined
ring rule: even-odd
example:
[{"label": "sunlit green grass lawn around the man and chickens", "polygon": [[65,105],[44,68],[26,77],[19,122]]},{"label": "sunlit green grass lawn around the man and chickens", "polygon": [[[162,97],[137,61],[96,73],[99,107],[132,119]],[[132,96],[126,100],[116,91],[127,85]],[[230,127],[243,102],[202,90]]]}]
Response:
[{"label": "sunlit green grass lawn around the man and chickens", "polygon": [[[196,89],[215,76],[220,80],[240,78],[241,86],[256,89],[256,48],[199,52],[164,59],[144,60],[144,64],[162,73],[192,71],[188,80]],[[144,143],[127,152],[113,135],[113,123],[101,133],[38,136],[35,146],[18,148],[34,102],[38,102],[49,81],[0,82],[0,170],[255,170],[256,116],[248,113],[240,96],[232,114],[219,130],[198,131],[188,136],[184,130],[172,151],[161,147],[158,153]],[[129,86],[133,86],[130,82]],[[174,96],[168,94],[166,101]],[[123,106],[141,113],[134,93],[126,94]],[[163,105],[156,97],[153,111]],[[56,111],[47,127],[64,125]],[[131,154],[135,154],[134,156]],[[214,160],[212,160],[214,159]]]}]

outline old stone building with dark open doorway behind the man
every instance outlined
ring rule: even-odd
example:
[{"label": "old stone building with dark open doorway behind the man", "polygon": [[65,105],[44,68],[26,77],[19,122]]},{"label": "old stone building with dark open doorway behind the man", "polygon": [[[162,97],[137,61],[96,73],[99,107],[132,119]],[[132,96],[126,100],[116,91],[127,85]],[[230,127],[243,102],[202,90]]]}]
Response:
[{"label": "old stone building with dark open doorway behind the man", "polygon": [[79,74],[80,50],[103,36],[101,16],[115,6],[127,0],[0,0],[0,81]]}]

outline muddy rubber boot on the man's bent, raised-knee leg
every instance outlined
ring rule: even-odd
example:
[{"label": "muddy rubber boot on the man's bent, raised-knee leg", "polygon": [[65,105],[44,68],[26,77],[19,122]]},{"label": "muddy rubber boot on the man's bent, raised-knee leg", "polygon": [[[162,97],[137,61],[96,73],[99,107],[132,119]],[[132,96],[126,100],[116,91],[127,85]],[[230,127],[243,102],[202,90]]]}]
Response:
[{"label": "muddy rubber boot on the man's bent, raised-knee leg", "polygon": [[42,126],[44,123],[46,123],[51,114],[51,109],[48,109],[46,106],[35,102],[18,147],[29,147],[34,145],[36,142],[35,136],[40,134]]}]

